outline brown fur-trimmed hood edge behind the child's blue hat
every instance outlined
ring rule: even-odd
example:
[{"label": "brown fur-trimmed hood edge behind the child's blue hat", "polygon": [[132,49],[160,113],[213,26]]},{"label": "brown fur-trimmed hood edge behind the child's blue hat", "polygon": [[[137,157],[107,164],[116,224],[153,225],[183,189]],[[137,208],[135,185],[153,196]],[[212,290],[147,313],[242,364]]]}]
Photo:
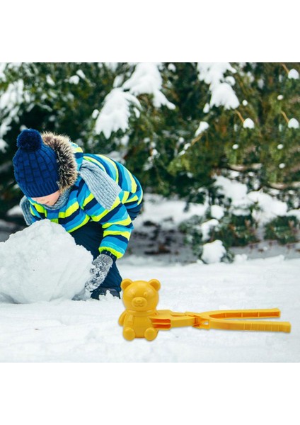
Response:
[{"label": "brown fur-trimmed hood edge behind the child's blue hat", "polygon": [[[74,185],[78,178],[83,152],[82,149],[72,143],[69,137],[56,135],[53,132],[42,132],[42,140],[45,145],[51,147],[57,154],[59,166],[59,189],[64,192]],[[76,152],[81,152],[79,159],[76,160]]]}]

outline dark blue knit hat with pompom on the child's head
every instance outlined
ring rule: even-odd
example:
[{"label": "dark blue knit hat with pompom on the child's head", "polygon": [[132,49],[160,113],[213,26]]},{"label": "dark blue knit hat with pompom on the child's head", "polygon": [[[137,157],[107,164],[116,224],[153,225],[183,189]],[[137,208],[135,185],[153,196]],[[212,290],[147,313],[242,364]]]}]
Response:
[{"label": "dark blue knit hat with pompom on the child's head", "polygon": [[23,130],[13,157],[16,181],[28,198],[40,198],[59,190],[57,155],[42,141],[40,132]]}]

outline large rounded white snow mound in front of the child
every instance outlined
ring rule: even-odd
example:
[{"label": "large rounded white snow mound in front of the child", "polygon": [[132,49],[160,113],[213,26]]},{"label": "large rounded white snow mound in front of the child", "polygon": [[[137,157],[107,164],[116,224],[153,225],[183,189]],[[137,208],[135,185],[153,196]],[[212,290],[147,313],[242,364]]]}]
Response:
[{"label": "large rounded white snow mound in front of the child", "polygon": [[0,294],[21,304],[70,300],[83,290],[92,260],[61,225],[35,222],[0,243]]}]

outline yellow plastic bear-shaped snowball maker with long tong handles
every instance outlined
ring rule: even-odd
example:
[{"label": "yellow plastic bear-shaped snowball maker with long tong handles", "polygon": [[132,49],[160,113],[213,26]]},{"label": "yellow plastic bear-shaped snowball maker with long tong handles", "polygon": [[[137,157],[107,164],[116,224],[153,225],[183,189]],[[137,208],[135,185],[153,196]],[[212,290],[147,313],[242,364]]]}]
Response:
[{"label": "yellow plastic bear-shaped snowball maker with long tong handles", "polygon": [[121,288],[126,310],[120,315],[119,324],[123,327],[123,336],[128,341],[134,338],[146,338],[152,341],[159,330],[185,326],[236,331],[291,331],[289,322],[240,320],[280,317],[278,308],[178,313],[171,310],[156,310],[158,290],[161,288],[161,283],[156,279],[151,279],[149,282],[125,279],[122,280]]}]

